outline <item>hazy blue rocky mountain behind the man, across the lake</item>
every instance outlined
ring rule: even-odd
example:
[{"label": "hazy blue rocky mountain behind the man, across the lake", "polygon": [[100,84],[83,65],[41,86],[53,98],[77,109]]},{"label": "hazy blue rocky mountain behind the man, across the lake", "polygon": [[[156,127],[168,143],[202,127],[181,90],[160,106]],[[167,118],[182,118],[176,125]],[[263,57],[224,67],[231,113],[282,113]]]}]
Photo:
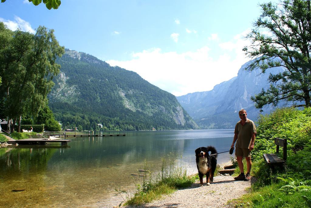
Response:
[{"label": "hazy blue rocky mountain behind the man, across the lake", "polygon": [[[262,88],[267,89],[269,73],[282,72],[284,68],[274,67],[261,74],[260,69],[245,71],[247,65],[248,62],[240,68],[238,76],[216,85],[213,90],[177,97],[179,103],[201,128],[234,128],[239,120],[238,112],[242,108],[247,110],[249,119],[257,120],[260,112],[254,107],[251,96],[258,94]],[[262,110],[263,113],[269,113],[273,108],[267,106]]]}]

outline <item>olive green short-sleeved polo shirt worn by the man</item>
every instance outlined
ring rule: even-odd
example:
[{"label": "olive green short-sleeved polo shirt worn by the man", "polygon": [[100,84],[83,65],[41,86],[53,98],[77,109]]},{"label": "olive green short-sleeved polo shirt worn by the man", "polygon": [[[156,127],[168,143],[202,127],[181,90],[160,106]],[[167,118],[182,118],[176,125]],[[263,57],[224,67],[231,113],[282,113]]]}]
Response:
[{"label": "olive green short-sleeved polo shirt worn by the man", "polygon": [[234,133],[238,134],[235,147],[249,148],[252,141],[252,133],[256,134],[257,132],[254,122],[247,118],[244,126],[242,126],[241,120],[236,123]]}]

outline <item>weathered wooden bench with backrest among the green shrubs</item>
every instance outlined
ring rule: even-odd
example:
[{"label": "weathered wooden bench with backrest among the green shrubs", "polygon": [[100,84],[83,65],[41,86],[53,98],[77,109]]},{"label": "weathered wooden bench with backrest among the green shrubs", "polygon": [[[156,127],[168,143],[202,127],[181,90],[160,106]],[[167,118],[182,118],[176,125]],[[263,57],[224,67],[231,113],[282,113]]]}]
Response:
[{"label": "weathered wooden bench with backrest among the green shrubs", "polygon": [[287,139],[274,138],[276,153],[279,153],[280,146],[283,147],[283,159],[276,154],[263,154],[263,159],[270,166],[283,166],[287,159]]}]

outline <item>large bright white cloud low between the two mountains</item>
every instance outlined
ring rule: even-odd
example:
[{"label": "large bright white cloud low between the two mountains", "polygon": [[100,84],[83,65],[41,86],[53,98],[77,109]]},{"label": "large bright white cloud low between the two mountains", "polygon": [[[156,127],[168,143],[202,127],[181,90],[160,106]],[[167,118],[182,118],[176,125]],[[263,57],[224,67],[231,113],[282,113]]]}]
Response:
[{"label": "large bright white cloud low between the two mountains", "polygon": [[[215,44],[215,48],[204,46],[184,53],[155,48],[133,53],[128,61],[106,62],[137,72],[151,84],[180,96],[212,90],[215,85],[237,76],[240,67],[249,61],[242,51],[247,44],[239,34],[230,41]],[[220,52],[215,58],[216,49]]]}]

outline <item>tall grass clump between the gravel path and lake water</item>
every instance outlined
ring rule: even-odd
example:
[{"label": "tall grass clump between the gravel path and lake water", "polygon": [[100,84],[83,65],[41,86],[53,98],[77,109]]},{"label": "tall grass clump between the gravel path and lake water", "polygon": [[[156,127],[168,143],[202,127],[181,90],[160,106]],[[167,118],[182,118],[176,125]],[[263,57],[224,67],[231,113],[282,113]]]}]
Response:
[{"label": "tall grass clump between the gravel path and lake water", "polygon": [[136,190],[133,196],[128,196],[125,205],[147,203],[194,183],[195,176],[187,175],[187,169],[181,160],[176,162],[176,156],[171,153],[168,159],[162,158],[161,171],[158,173],[151,171],[152,167],[148,167],[145,161],[145,169],[138,170],[143,174],[133,177]]}]

